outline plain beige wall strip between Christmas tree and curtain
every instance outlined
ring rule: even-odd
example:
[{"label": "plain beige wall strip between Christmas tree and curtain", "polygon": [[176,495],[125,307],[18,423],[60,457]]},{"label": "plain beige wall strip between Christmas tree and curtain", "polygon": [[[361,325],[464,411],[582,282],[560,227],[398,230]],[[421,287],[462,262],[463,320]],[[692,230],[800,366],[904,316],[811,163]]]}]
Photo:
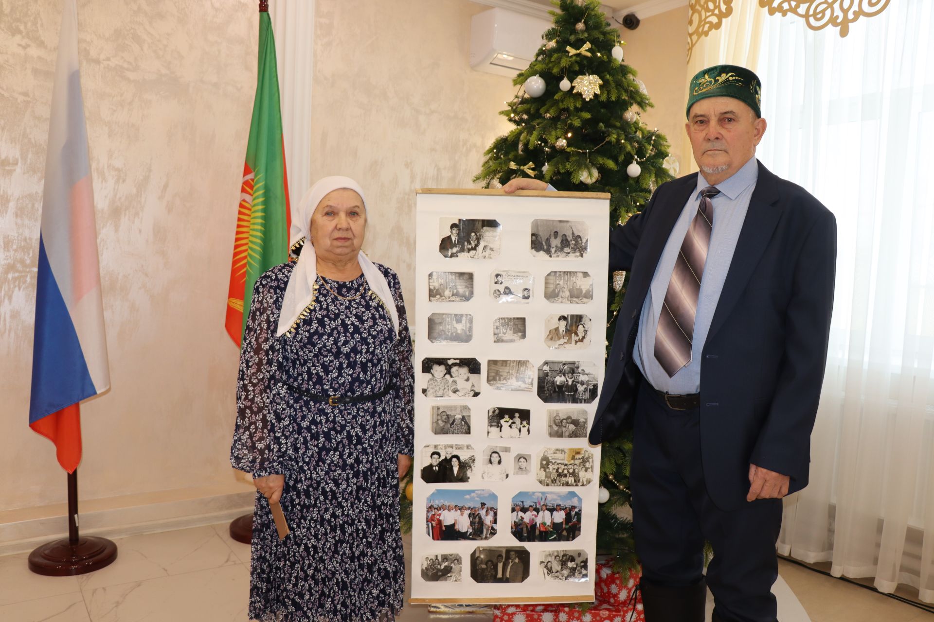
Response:
[{"label": "plain beige wall strip between Christmas tree and curtain", "polygon": [[643,114],[650,128],[658,128],[671,144],[671,153],[687,173],[691,154],[685,151],[685,90],[687,88],[687,6],[654,15],[636,30],[620,27],[626,41],[626,62],[639,72],[655,104]]}]

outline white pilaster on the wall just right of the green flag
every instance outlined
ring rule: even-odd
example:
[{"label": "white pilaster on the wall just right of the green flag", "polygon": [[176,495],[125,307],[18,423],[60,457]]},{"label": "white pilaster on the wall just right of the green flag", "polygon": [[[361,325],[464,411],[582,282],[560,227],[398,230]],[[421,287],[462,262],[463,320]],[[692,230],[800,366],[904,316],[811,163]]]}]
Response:
[{"label": "white pilaster on the wall just right of the green flag", "polygon": [[279,107],[289,176],[289,200],[311,187],[311,87],[315,75],[315,0],[272,0]]}]

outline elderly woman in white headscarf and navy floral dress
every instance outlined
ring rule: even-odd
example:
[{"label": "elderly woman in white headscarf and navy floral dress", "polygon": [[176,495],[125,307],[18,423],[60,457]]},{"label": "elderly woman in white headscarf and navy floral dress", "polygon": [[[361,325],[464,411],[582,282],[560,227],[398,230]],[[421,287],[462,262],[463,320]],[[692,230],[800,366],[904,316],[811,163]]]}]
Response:
[{"label": "elderly woman in white headscarf and navy floral dress", "polygon": [[[363,253],[363,191],[326,177],[293,208],[298,261],[253,288],[231,463],[252,473],[249,616],[392,620],[399,478],[412,463],[412,343],[395,272]],[[270,504],[290,534],[279,540]]]}]

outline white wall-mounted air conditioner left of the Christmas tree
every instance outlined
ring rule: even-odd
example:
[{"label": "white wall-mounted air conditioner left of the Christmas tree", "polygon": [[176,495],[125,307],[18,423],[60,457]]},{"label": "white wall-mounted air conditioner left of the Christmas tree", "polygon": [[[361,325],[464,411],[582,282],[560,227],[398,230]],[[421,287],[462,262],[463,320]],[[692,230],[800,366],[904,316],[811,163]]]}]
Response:
[{"label": "white wall-mounted air conditioner left of the Christmas tree", "polygon": [[477,71],[515,77],[542,46],[551,22],[504,8],[490,8],[471,19],[470,64]]}]

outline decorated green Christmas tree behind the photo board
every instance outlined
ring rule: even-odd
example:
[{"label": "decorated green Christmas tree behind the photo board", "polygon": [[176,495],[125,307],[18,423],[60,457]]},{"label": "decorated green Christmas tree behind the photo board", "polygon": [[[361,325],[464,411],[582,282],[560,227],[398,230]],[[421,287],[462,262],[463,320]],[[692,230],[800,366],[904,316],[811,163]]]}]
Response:
[{"label": "decorated green Christmas tree behind the photo board", "polygon": [[[554,25],[543,35],[529,68],[500,114],[514,126],[489,146],[474,181],[499,187],[519,175],[559,190],[610,193],[610,224],[642,209],[655,188],[670,179],[668,141],[650,130],[640,113],[652,105],[645,85],[623,62],[625,45],[606,21],[600,0],[552,0]],[[608,283],[607,342],[626,293],[624,275]],[[597,546],[616,558],[617,569],[636,563],[632,524],[619,510],[630,505],[631,436],[603,443]],[[605,493],[604,493],[605,494]]]}]

